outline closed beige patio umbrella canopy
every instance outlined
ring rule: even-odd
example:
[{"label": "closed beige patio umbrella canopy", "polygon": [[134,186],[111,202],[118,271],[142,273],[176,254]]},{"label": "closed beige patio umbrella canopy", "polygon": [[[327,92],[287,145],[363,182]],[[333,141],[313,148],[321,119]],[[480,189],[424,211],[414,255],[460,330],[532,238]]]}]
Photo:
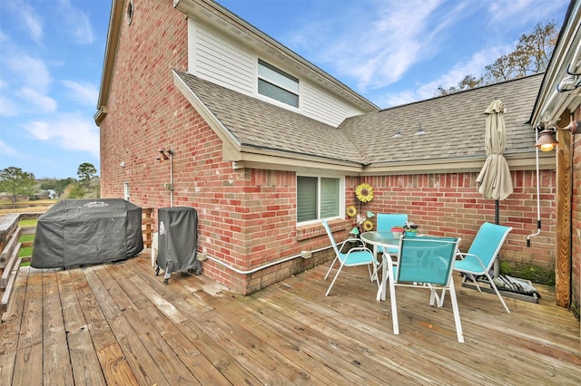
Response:
[{"label": "closed beige patio umbrella canopy", "polygon": [[505,105],[499,99],[492,101],[484,111],[487,114],[485,135],[487,160],[476,179],[478,192],[483,198],[505,199],[513,192],[510,169],[503,155],[507,144],[505,112]]}]

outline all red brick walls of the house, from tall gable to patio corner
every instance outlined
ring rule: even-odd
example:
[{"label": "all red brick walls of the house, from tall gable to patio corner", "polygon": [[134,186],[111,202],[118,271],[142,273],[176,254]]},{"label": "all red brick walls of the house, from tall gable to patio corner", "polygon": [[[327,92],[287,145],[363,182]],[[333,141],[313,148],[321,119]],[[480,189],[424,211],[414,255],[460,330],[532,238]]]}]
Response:
[{"label": "all red brick walls of the house, from tall gable to patio corner", "polygon": [[[198,249],[211,256],[203,263],[205,275],[249,294],[328,261],[332,254],[324,249],[329,240],[323,228],[295,225],[295,173],[232,169],[222,160],[222,142],[173,85],[171,69],[187,68],[183,14],[169,0],[133,4],[133,23],[123,22],[108,114],[101,124],[102,197],[123,197],[127,182],[134,204],[170,207],[164,184],[170,182],[171,163],[155,158],[160,148],[171,149],[173,204],[198,210]],[[423,231],[461,236],[468,246],[483,221],[494,222],[494,201],[481,198],[475,179],[476,173],[352,177],[347,204],[355,204],[355,186],[369,182],[375,188],[370,210],[408,213]],[[513,171],[515,193],[500,203],[500,223],[515,230],[502,258],[554,265],[554,171],[543,171],[541,179],[543,230],[527,248],[527,235],[537,230],[536,176]],[[331,223],[338,240],[352,226],[351,219]],[[302,250],[318,252],[251,272]]]}]

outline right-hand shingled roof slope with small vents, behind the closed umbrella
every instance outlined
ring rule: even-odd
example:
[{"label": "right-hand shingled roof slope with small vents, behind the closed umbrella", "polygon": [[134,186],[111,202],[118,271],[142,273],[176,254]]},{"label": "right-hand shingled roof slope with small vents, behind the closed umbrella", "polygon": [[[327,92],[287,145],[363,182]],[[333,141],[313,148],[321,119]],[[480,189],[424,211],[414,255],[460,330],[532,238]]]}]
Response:
[{"label": "right-hand shingled roof slope with small vents, behind the closed umbrella", "polygon": [[[528,121],[543,74],[501,82],[349,118],[340,124],[369,164],[402,160],[486,157],[484,111],[495,98],[507,112],[505,155],[534,152],[535,131]],[[414,135],[419,125],[425,135]],[[401,136],[394,138],[396,130]]]}]

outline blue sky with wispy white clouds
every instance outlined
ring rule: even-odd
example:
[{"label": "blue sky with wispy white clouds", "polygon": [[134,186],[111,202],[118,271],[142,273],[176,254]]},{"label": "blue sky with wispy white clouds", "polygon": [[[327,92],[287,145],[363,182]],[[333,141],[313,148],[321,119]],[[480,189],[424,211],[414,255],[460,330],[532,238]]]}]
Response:
[{"label": "blue sky with wispy white clouds", "polygon": [[[165,1],[172,4],[171,0]],[[133,0],[139,6],[140,0]],[[479,76],[568,0],[219,0],[387,108]],[[94,123],[111,0],[0,1],[0,169],[99,174]]]}]

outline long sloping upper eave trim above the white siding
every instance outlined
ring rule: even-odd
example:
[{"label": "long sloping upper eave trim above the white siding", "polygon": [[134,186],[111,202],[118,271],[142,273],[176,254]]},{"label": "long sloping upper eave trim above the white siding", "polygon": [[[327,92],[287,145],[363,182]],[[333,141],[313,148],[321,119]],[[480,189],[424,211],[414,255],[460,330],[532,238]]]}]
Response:
[{"label": "long sloping upper eave trim above the white siding", "polygon": [[[368,112],[380,110],[379,106],[377,106],[375,103],[367,100],[363,96],[359,95],[359,93],[354,92],[350,89],[350,87],[335,79],[329,73],[322,71],[319,67],[305,60],[298,53],[294,53],[283,44],[271,38],[271,36],[268,34],[264,34],[258,28],[245,22],[238,15],[232,14],[222,5],[207,0],[173,0],[173,7],[181,11],[183,14],[192,17],[194,20],[200,20],[200,16],[203,15],[201,13],[202,8],[208,15],[216,16],[222,20],[224,23],[222,25],[231,25],[231,27],[236,28],[241,32],[241,36],[248,36],[251,40],[262,44],[264,47],[266,47],[266,51],[270,51],[271,53],[275,54],[279,53],[279,56],[284,56],[284,58],[291,61],[291,63],[294,65],[305,69],[306,72],[310,72],[312,74],[312,79],[317,80],[317,82],[319,82],[321,85],[324,85],[325,82],[332,84],[333,87],[339,89],[340,92],[349,95],[352,100],[354,99],[358,101],[359,107],[363,108],[364,110]],[[218,26],[222,25],[218,24]]]}]

